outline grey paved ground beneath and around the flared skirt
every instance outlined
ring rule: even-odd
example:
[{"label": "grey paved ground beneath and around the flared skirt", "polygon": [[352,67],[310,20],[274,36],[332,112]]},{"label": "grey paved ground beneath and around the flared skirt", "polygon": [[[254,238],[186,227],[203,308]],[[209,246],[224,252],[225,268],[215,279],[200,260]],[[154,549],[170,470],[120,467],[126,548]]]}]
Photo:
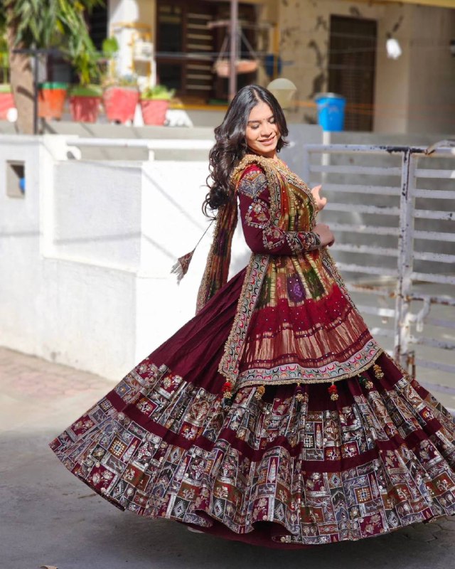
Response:
[{"label": "grey paved ground beneath and around the flared skirt", "polygon": [[122,513],[63,468],[48,441],[112,383],[0,348],[0,568],[451,569],[455,519],[312,551],[278,551]]}]

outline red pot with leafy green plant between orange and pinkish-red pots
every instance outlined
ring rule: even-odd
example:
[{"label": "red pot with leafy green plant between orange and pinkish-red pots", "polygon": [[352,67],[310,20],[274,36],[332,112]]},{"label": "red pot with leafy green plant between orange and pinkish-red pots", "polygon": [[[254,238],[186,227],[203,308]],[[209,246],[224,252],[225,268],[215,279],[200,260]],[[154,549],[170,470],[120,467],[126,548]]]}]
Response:
[{"label": "red pot with leafy green plant between orange and pinkish-red pots", "polygon": [[100,79],[100,57],[95,50],[81,53],[73,59],[79,84],[70,89],[70,112],[75,122],[96,122],[102,88],[93,82]]}]

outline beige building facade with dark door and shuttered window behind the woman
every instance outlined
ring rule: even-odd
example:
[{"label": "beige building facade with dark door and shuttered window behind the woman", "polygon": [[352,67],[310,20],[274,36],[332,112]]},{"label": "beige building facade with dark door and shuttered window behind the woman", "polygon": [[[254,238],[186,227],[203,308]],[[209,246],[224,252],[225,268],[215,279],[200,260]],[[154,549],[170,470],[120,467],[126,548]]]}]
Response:
[{"label": "beige building facade with dark door and shuttered window behind the woman", "polygon": [[[242,1],[238,48],[259,67],[238,75],[238,86],[267,85],[278,74],[291,79],[295,122],[315,122],[314,97],[336,92],[348,102],[348,130],[453,132],[455,0],[419,2]],[[228,79],[213,64],[227,55],[229,13],[230,2],[221,0],[109,0],[104,21],[121,46],[119,73],[139,71],[175,88],[183,107],[225,104]],[[92,21],[100,34],[100,10]],[[387,53],[390,40],[401,50],[396,58]]]}]

